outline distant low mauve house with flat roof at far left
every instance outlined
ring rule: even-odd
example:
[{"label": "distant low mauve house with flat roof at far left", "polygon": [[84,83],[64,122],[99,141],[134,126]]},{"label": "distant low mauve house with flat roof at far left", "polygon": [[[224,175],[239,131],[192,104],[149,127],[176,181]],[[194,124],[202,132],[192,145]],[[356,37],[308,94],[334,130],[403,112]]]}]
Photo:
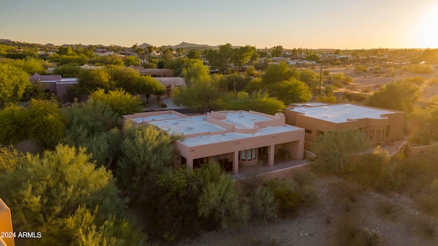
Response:
[{"label": "distant low mauve house with flat roof at far left", "polygon": [[69,102],[68,87],[78,83],[77,78],[62,78],[61,75],[40,75],[38,73],[29,77],[31,83],[40,86],[40,90],[55,94],[58,100]]}]

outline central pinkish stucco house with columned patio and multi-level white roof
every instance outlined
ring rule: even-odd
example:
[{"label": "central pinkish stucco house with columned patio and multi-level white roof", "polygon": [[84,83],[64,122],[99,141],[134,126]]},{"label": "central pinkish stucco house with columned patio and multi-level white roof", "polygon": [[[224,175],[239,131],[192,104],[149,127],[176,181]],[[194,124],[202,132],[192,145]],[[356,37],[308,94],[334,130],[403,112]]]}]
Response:
[{"label": "central pinkish stucco house with columned patio and multi-level white roof", "polygon": [[211,111],[207,115],[188,116],[176,111],[156,111],[124,115],[133,124],[153,124],[168,133],[179,133],[175,141],[178,156],[175,167],[201,167],[210,160],[224,169],[239,172],[240,166],[259,161],[274,165],[276,156],[301,160],[304,156],[304,132],[285,124],[285,115],[255,111]]}]

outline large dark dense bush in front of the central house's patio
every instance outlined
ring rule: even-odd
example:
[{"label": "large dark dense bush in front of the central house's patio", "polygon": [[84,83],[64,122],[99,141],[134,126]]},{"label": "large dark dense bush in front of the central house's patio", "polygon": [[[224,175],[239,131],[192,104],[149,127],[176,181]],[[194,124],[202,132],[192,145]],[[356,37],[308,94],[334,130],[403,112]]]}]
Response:
[{"label": "large dark dense bush in front of the central house's patio", "polygon": [[144,206],[154,225],[154,234],[166,241],[198,234],[200,228],[214,230],[239,226],[248,218],[242,191],[218,163],[208,163],[193,172],[168,169],[159,175]]}]

